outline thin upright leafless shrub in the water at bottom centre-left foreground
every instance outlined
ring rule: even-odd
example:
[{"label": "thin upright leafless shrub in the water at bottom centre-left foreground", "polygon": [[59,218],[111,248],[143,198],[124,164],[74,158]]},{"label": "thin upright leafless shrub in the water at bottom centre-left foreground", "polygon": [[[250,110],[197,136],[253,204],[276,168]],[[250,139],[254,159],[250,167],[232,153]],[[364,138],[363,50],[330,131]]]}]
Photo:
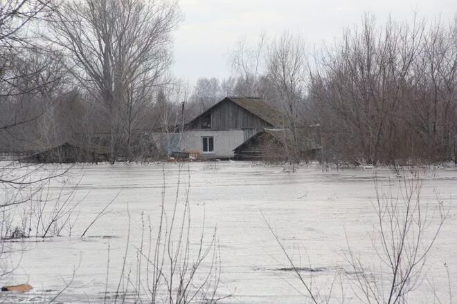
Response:
[{"label": "thin upright leafless shrub in the water at bottom centre-left foreground", "polygon": [[[120,265],[120,276],[116,278],[114,303],[124,302],[126,296],[131,296],[136,302],[147,299],[148,303],[215,304],[231,296],[219,296],[221,264],[216,229],[206,235],[203,218],[201,231],[196,238],[193,237],[188,200],[190,185],[183,185],[181,165],[178,170],[176,192],[171,202],[165,198],[168,186],[164,175],[157,220],[153,221],[149,216],[145,218],[142,213],[143,230],[138,247],[130,244],[127,235],[123,265]],[[128,205],[127,215],[130,223]],[[127,260],[132,249],[136,256],[134,267],[129,266]],[[108,281],[109,276],[107,284]]]}]

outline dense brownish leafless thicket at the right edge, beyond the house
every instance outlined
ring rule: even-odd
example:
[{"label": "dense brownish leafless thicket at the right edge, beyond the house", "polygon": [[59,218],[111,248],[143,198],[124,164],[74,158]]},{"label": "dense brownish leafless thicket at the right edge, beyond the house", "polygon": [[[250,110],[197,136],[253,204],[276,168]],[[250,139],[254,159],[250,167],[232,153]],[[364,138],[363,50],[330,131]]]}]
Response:
[{"label": "dense brownish leafless thicket at the right edge, beyond the house", "polygon": [[[439,155],[442,139],[429,138],[447,137],[449,154],[456,46],[445,37],[452,35],[442,26],[427,30],[415,16],[409,23],[389,19],[378,26],[365,15],[361,26],[346,29],[341,41],[324,48],[310,90],[324,146],[347,160],[395,167]],[[447,131],[438,136],[442,124]]]}]

